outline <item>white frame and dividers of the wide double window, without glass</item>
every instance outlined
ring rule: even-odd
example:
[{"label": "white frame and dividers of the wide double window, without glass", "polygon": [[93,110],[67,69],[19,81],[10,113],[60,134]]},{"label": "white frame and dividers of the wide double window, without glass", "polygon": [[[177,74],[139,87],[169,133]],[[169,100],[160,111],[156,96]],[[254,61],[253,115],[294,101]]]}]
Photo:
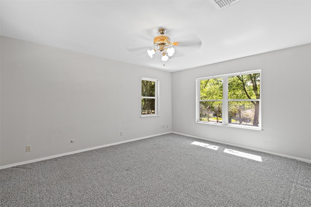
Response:
[{"label": "white frame and dividers of the wide double window, without glass", "polygon": [[[238,75],[247,75],[247,74],[254,74],[260,73],[260,98],[259,99],[229,99],[228,98],[228,78],[231,76],[238,76]],[[223,78],[223,99],[218,100],[223,102],[222,107],[222,123],[212,123],[212,122],[205,122],[200,121],[200,101],[205,101],[200,99],[200,81],[207,80],[207,79],[216,79],[216,78]],[[261,70],[252,70],[252,71],[245,71],[245,72],[238,72],[238,73],[231,73],[219,76],[210,76],[204,78],[196,79],[196,115],[195,120],[196,123],[200,124],[208,124],[208,125],[219,125],[219,126],[230,126],[230,127],[240,127],[240,128],[251,128],[251,129],[259,129],[261,130]],[[217,100],[212,100],[217,101]],[[236,125],[236,124],[229,124],[228,121],[228,102],[229,101],[259,101],[259,126],[246,126],[246,125]]]}]

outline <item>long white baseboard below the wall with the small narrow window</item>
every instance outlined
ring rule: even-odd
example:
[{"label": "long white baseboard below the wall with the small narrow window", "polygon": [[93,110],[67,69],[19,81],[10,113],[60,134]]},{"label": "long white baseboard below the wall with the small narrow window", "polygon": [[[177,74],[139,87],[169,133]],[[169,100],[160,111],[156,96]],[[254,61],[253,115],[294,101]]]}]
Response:
[{"label": "long white baseboard below the wall with the small narrow window", "polygon": [[107,147],[107,146],[112,146],[112,145],[117,145],[117,144],[121,144],[121,143],[133,142],[133,141],[137,141],[137,140],[147,139],[147,138],[150,138],[150,137],[155,137],[155,136],[159,136],[159,135],[163,135],[163,134],[170,134],[170,133],[172,133],[172,131],[165,132],[165,133],[160,133],[160,134],[155,134],[155,135],[150,135],[150,136],[146,136],[146,137],[140,137],[140,138],[136,138],[136,139],[132,139],[132,140],[126,140],[126,141],[122,141],[122,142],[118,142],[118,143],[110,143],[110,144],[105,144],[105,145],[101,145],[101,146],[95,146],[95,147],[91,147],[91,148],[86,148],[86,149],[81,149],[81,150],[77,150],[77,151],[67,152],[67,153],[63,153],[63,154],[52,155],[52,156],[48,156],[48,157],[44,157],[44,158],[32,159],[32,160],[27,160],[27,161],[23,161],[23,162],[3,165],[3,166],[0,166],[0,170],[1,169],[5,169],[5,168],[10,168],[10,167],[15,167],[15,166],[18,166],[18,165],[24,165],[24,164],[33,163],[33,162],[37,162],[37,161],[42,161],[42,160],[46,160],[46,159],[58,158],[58,157],[66,156],[66,155],[72,155],[72,154],[76,154],[76,153],[80,153],[80,152],[85,152],[85,151],[89,151],[89,150],[93,150],[93,149],[99,149],[99,148],[103,148],[103,147]]}]

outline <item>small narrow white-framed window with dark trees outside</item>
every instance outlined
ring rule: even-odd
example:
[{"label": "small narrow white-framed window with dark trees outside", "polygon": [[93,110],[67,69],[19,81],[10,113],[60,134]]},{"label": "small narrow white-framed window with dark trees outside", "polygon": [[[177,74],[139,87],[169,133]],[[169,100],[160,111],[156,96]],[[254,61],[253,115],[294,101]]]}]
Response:
[{"label": "small narrow white-framed window with dark trees outside", "polygon": [[159,80],[141,79],[141,116],[158,115]]}]

